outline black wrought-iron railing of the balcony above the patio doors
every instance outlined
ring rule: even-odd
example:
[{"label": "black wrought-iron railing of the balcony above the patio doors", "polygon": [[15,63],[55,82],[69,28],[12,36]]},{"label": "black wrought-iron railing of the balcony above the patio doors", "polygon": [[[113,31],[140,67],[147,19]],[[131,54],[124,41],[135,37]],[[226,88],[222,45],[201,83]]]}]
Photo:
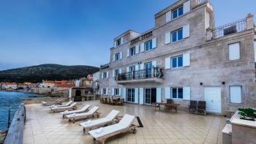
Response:
[{"label": "black wrought-iron railing of the balcony above the patio doors", "polygon": [[118,74],[116,81],[120,80],[141,80],[146,78],[162,78],[164,77],[163,69],[159,67],[153,67],[152,69],[143,69],[133,72],[124,72]]}]

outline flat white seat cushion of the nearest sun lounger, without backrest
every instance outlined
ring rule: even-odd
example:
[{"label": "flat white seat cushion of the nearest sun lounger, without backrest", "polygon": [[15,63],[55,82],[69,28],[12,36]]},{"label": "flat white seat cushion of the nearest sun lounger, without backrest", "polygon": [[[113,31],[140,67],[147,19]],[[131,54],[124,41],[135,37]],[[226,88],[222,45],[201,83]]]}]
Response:
[{"label": "flat white seat cushion of the nearest sun lounger, without backrest", "polygon": [[89,134],[91,134],[92,137],[97,139],[99,137],[103,137],[105,135],[121,131],[123,129],[126,129],[126,127],[122,126],[121,124],[113,124],[110,126],[102,127],[102,131],[99,133],[97,133],[98,129],[94,129],[94,130],[89,131]]}]

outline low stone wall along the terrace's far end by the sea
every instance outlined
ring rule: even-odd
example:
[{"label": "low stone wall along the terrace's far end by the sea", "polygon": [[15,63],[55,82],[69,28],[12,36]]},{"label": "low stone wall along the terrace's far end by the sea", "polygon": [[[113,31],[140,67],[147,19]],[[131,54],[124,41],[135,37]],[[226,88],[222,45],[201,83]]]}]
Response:
[{"label": "low stone wall along the terrace's far end by the sea", "polygon": [[34,97],[34,98],[20,98],[21,102],[24,103],[24,105],[29,104],[39,104],[41,102],[53,102],[56,99],[59,99],[59,97]]}]

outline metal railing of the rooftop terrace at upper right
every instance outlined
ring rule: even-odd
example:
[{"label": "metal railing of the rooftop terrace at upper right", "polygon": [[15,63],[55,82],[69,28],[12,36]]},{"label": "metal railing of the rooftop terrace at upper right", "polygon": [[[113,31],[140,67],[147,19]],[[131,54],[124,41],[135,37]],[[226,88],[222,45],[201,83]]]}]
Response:
[{"label": "metal railing of the rooftop terrace at upper right", "polygon": [[246,18],[211,29],[213,39],[246,30]]}]

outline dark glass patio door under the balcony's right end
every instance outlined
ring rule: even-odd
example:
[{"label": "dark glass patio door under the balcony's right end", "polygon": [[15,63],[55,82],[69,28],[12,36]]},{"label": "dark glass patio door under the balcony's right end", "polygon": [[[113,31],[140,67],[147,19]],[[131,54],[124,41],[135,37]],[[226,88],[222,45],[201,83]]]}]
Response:
[{"label": "dark glass patio door under the balcony's right end", "polygon": [[157,102],[157,88],[145,88],[145,100],[146,105],[151,105]]}]

